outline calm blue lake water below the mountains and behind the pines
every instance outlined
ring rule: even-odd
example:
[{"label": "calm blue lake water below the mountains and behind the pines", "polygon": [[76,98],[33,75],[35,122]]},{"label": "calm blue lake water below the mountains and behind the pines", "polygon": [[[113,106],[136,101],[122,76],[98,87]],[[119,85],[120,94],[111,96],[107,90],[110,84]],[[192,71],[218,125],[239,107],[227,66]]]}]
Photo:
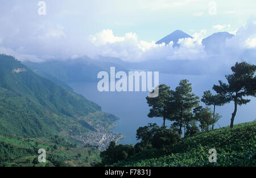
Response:
[{"label": "calm blue lake water below the mountains and behind the pines", "polygon": [[[188,79],[192,83],[193,92],[200,97],[204,91],[211,90],[213,84],[217,84],[218,80],[226,81],[223,76],[216,75],[159,74],[159,84],[167,84],[172,90],[179,84],[181,79]],[[146,102],[146,96],[148,92],[99,92],[97,90],[97,82],[68,82],[68,84],[78,94],[100,105],[102,111],[113,113],[115,116],[121,118],[115,121],[117,126],[113,131],[125,135],[125,138],[120,142],[122,144],[137,143],[135,137],[136,130],[139,126],[154,122],[162,125],[162,118],[147,117],[149,107]],[[255,120],[256,99],[250,99],[251,102],[249,104],[238,107],[234,124]],[[219,128],[219,125],[222,127],[230,124],[233,109],[233,102],[216,108],[216,112],[220,113],[222,118],[218,121],[218,125],[215,128]],[[170,126],[171,122],[167,121],[166,124]]]}]

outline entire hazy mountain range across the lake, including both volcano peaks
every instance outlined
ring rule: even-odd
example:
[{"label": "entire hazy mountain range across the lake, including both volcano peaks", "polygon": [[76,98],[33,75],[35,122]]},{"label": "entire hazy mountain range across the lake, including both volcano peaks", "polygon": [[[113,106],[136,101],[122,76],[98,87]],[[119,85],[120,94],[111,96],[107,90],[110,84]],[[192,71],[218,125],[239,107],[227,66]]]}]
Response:
[{"label": "entire hazy mountain range across the lake, including both volcano peaks", "polygon": [[[221,51],[222,45],[224,45],[226,39],[230,39],[234,35],[228,32],[213,33],[207,38],[203,39],[202,43],[205,46],[205,51],[210,54]],[[183,38],[193,38],[187,33],[176,30],[169,35],[163,37],[163,39],[156,42],[156,44],[169,44],[174,42],[174,47],[179,48],[178,41]],[[97,81],[97,74],[100,71],[109,71],[110,67],[115,66],[117,71],[129,71],[130,69],[141,70],[154,70],[162,73],[172,74],[205,74],[210,73],[209,69],[201,67],[209,65],[209,61],[201,60],[150,60],[143,62],[125,62],[115,57],[99,56],[97,59],[84,56],[76,58],[75,60],[52,60],[41,63],[24,61],[26,66],[35,71],[36,74],[41,75],[44,78],[52,80],[53,82],[72,90],[65,84],[65,81],[81,81],[92,82]],[[181,70],[182,69],[182,70]]]}]

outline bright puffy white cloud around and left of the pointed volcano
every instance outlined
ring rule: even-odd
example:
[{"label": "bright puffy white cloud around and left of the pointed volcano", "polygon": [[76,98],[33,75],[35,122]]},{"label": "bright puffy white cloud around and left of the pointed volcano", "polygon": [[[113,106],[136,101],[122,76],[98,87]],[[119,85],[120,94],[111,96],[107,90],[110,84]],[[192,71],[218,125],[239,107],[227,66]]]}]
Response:
[{"label": "bright puffy white cloud around and left of the pointed volcano", "polygon": [[[146,60],[198,60],[205,59],[204,46],[201,44],[206,30],[193,35],[193,39],[180,39],[179,48],[173,48],[170,44],[155,44],[155,41],[139,41],[135,33],[126,33],[123,37],[113,35],[113,31],[103,30],[90,36],[94,44],[94,54],[90,57],[112,56],[124,61],[146,61]],[[92,52],[92,50],[91,50]]]}]

